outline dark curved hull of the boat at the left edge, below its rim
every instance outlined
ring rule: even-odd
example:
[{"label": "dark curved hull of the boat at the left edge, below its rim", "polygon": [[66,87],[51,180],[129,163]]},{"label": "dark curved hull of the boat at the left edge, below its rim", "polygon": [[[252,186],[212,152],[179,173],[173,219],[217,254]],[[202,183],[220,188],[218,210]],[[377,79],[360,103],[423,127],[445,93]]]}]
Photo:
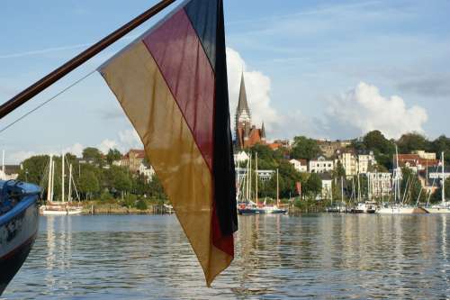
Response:
[{"label": "dark curved hull of the boat at the left edge, below its rim", "polygon": [[19,204],[0,215],[0,295],[22,267],[36,239],[38,197],[25,195]]}]

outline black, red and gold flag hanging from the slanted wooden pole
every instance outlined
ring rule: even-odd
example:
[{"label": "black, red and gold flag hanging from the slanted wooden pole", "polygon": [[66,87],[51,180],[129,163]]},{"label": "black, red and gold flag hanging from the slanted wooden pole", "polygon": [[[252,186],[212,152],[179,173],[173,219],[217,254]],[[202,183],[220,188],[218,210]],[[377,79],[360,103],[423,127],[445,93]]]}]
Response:
[{"label": "black, red and gold flag hanging from the slanted wooden pole", "polygon": [[238,230],[222,0],[185,1],[99,71],[210,286],[233,259]]}]

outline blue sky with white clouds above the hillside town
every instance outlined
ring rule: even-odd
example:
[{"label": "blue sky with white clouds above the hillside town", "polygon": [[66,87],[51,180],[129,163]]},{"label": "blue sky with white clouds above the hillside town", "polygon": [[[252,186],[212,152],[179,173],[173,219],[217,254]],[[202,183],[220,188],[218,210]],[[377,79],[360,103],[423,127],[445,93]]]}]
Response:
[{"label": "blue sky with white clouds above the hillside town", "polygon": [[[0,4],[0,102],[58,68],[155,0],[4,0]],[[450,136],[450,2],[225,0],[230,114],[241,72],[254,123],[269,140],[347,139],[374,129],[388,138]],[[87,146],[141,143],[95,72],[167,14],[117,41],[0,120],[0,130],[67,86],[49,104],[0,132],[7,163]]]}]

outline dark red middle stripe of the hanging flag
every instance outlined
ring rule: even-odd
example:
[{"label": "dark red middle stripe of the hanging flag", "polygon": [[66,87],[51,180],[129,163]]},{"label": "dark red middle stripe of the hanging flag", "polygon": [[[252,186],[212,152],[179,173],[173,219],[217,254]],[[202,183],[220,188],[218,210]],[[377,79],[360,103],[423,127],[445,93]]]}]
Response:
[{"label": "dark red middle stripe of the hanging flag", "polygon": [[184,10],[143,39],[212,170],[214,72]]}]

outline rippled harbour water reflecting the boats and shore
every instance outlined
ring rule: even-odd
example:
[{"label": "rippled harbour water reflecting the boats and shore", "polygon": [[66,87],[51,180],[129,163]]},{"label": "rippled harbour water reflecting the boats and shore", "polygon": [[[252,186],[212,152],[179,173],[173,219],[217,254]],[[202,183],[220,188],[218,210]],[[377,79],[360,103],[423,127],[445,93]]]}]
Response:
[{"label": "rippled harbour water reflecting the boats and shore", "polygon": [[211,288],[174,215],[40,217],[2,299],[450,297],[450,215],[239,216]]}]

